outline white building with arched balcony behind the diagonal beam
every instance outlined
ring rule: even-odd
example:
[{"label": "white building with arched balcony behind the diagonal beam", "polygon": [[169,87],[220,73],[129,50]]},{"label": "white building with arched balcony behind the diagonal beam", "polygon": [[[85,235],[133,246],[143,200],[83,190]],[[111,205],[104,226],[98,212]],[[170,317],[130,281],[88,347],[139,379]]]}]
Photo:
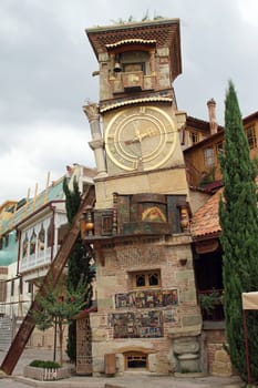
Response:
[{"label": "white building with arched balcony behind the diagonal beam", "polygon": [[[33,198],[6,202],[1,206],[0,314],[10,319],[12,335],[24,318],[69,229],[63,181],[69,180],[72,188],[76,180],[83,193],[93,184],[94,176],[94,169],[79,164],[68,166],[66,174],[48,184]],[[45,338],[37,330],[30,339],[35,346],[52,347],[52,343],[51,335]]]}]

